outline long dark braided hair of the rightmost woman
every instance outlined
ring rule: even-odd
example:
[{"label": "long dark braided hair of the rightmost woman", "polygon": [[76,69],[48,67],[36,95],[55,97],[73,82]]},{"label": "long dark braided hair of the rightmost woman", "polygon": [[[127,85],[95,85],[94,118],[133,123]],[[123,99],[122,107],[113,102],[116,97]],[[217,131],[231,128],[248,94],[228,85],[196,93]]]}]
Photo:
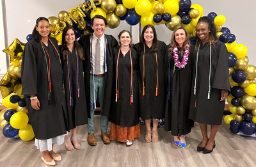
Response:
[{"label": "long dark braided hair of the rightmost woman", "polygon": [[[211,41],[211,44],[209,44],[209,45],[214,45],[214,43],[217,42],[217,40],[218,40],[218,38],[216,36],[216,27],[215,27],[214,22],[212,22],[212,20],[207,16],[200,17],[197,24],[199,24],[200,22],[205,22],[206,24],[208,24],[208,28],[210,29],[209,42]],[[201,42],[200,38],[196,35],[195,51],[198,50],[198,46],[199,46],[200,42]]]}]

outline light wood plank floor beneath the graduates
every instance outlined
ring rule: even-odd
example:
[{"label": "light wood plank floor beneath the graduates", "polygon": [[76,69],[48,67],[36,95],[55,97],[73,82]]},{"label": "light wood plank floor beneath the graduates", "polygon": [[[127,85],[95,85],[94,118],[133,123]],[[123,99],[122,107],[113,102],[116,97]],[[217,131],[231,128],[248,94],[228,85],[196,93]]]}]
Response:
[{"label": "light wood plank floor beneath the graduates", "polygon": [[[56,166],[256,166],[256,138],[231,134],[224,122],[216,136],[216,148],[207,155],[196,152],[202,140],[198,123],[186,136],[186,148],[174,145],[173,136],[163,128],[159,129],[159,142],[146,143],[143,126],[141,138],[136,139],[131,147],[117,141],[104,145],[100,136],[99,116],[96,116],[95,124],[97,146],[88,145],[87,128],[83,125],[77,130],[80,150],[69,152],[64,144],[54,147],[62,159]],[[0,132],[0,166],[46,166],[40,157],[34,140],[5,138]]]}]

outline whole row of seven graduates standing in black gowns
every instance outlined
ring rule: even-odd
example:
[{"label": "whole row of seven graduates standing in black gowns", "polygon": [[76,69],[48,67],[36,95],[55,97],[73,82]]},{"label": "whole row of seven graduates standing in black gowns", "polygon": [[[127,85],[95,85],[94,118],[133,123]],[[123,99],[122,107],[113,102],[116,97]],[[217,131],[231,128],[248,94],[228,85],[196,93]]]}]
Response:
[{"label": "whole row of seven graduates standing in black gowns", "polygon": [[200,123],[203,139],[197,151],[212,152],[230,90],[227,49],[218,41],[212,20],[198,20],[195,45],[182,26],[166,45],[157,40],[154,26],[147,25],[133,45],[127,30],[119,33],[119,42],[104,34],[107,25],[104,17],[95,15],[94,33],[78,41],[75,29],[66,26],[58,46],[49,37],[49,20],[36,20],[33,40],[24,48],[21,79],[41,159],[48,165],[61,161],[52,148],[64,141],[67,150],[80,149],[79,125],[87,124],[88,144],[97,145],[97,99],[104,144],[117,139],[131,146],[140,138],[140,117],[145,120],[145,140],[156,143],[158,121],[164,118],[164,130],[171,131],[173,142],[182,148],[194,122]]}]

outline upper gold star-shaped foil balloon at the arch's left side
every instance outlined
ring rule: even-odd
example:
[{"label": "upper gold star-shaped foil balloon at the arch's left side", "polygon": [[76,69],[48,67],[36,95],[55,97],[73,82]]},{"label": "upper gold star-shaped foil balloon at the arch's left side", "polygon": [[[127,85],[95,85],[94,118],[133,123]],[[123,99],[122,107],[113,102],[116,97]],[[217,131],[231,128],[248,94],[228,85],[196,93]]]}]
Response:
[{"label": "upper gold star-shaped foil balloon at the arch's left side", "polygon": [[12,61],[19,60],[20,58],[22,58],[22,52],[24,50],[24,47],[25,43],[20,42],[20,40],[15,38],[12,44],[6,47],[6,49],[4,49],[3,52],[6,52],[10,55],[10,62],[12,63]]}]

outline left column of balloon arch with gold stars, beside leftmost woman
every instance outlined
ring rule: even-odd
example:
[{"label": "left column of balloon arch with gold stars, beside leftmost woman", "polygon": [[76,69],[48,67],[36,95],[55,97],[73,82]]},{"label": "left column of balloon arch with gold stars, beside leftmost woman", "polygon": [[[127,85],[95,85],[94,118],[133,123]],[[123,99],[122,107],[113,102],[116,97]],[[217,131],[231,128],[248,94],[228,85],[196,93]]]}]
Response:
[{"label": "left column of balloon arch with gold stars, beside leftmost woman", "polygon": [[20,68],[24,43],[17,38],[3,51],[10,55],[12,65],[0,81],[2,103],[6,107],[0,112],[0,129],[6,138],[17,138],[29,141],[35,137],[32,126],[28,124],[28,108],[21,95]]}]

